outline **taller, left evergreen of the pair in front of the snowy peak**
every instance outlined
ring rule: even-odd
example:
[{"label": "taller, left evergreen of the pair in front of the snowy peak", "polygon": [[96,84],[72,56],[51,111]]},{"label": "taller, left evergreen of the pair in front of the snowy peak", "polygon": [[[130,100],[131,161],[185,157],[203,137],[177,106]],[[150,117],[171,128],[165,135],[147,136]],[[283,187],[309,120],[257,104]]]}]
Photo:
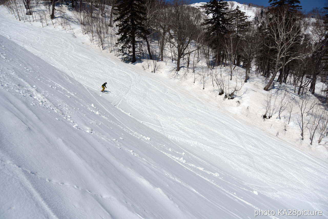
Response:
[{"label": "taller, left evergreen of the pair in front of the snowy peak", "polygon": [[228,31],[229,19],[227,17],[227,9],[228,3],[226,1],[210,0],[205,10],[208,16],[212,16],[204,20],[204,25],[206,25],[207,34],[210,37],[210,46],[216,50],[216,64],[220,62],[220,39]]}]

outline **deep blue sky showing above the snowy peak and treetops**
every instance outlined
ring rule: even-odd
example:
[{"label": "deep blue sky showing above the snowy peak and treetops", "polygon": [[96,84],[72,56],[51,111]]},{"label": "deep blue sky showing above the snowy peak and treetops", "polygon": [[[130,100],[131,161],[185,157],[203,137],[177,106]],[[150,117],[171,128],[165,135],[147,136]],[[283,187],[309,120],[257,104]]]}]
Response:
[{"label": "deep blue sky showing above the snowy peak and treetops", "polygon": [[[209,0],[208,0],[209,1]],[[208,2],[206,0],[191,0],[191,3],[197,3],[197,2]],[[263,5],[263,6],[269,6],[270,4],[268,3],[269,0],[235,0],[236,2],[239,3],[253,3],[255,5]],[[328,0],[300,0],[301,6],[302,6],[302,11],[311,11],[313,8],[323,8],[325,7],[326,3],[328,3]]]}]

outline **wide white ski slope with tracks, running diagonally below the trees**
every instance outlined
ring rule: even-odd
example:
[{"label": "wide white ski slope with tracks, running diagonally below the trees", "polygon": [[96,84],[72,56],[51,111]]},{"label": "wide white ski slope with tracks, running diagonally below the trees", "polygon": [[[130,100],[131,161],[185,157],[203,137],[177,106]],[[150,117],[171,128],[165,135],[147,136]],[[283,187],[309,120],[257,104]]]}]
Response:
[{"label": "wide white ski slope with tracks, running diagonally below the trees", "polygon": [[326,158],[263,125],[250,92],[238,108],[74,32],[0,7],[0,218],[328,218]]}]

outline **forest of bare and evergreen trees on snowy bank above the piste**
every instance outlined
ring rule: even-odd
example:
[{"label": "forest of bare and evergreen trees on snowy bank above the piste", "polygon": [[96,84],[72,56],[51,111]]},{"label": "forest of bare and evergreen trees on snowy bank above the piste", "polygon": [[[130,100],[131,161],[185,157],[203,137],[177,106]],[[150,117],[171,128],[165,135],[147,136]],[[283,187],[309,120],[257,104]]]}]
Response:
[{"label": "forest of bare and evergreen trees on snowy bank above the piste", "polygon": [[[72,20],[77,21],[102,50],[128,62],[145,59],[144,68],[152,72],[157,71],[159,61],[175,63],[176,77],[193,74],[195,83],[197,75],[203,89],[205,81],[211,81],[217,94],[228,99],[248,81],[251,72],[265,78],[263,89],[268,92],[274,83],[284,83],[292,85],[299,96],[320,93],[316,103],[305,97],[297,103],[303,112],[299,123],[303,139],[304,124],[311,120],[303,121],[303,114],[312,115],[310,112],[318,111],[314,106],[322,106],[327,99],[328,89],[316,87],[318,82],[327,83],[327,15],[320,10],[302,13],[299,0],[269,3],[267,8],[249,5],[254,17],[247,16],[245,8],[222,0],[201,7],[185,0],[7,0],[5,6],[17,19],[42,25],[56,25],[53,20],[57,19],[57,24],[72,30]],[[63,8],[72,11],[74,19]],[[245,70],[236,71],[239,68]],[[272,106],[277,97],[268,93],[263,118],[276,113],[280,119],[288,108],[288,100],[282,97]],[[312,130],[311,143],[319,129],[319,142],[328,134],[326,106],[316,112],[322,118],[311,121],[313,127],[306,126]],[[290,120],[293,107],[289,108]],[[321,126],[319,122],[323,122]]]}]

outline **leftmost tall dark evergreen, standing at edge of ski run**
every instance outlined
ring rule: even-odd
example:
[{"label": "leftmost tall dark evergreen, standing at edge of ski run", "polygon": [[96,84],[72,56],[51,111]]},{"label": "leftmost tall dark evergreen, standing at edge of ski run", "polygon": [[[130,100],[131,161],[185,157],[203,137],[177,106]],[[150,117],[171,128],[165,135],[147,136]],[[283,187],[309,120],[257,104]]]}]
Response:
[{"label": "leftmost tall dark evergreen, standing at edge of ski run", "polygon": [[146,9],[143,0],[117,0],[114,8],[115,14],[118,15],[114,22],[118,22],[119,35],[117,45],[121,45],[119,51],[127,56],[132,56],[132,62],[136,61],[136,44],[137,38],[148,35],[149,32],[145,27]]}]

